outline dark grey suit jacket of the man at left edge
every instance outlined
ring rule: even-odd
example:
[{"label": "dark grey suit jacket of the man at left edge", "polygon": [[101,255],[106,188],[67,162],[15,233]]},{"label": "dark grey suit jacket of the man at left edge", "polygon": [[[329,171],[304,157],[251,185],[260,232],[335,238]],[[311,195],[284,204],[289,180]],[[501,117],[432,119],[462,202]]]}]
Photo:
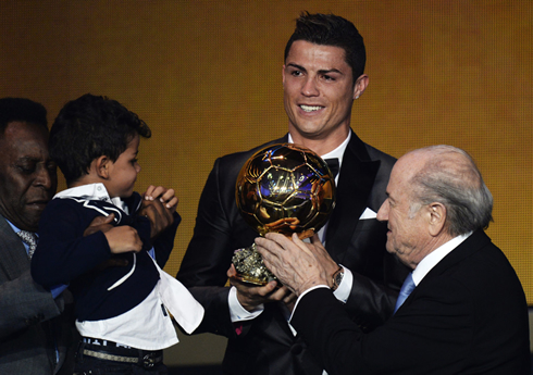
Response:
[{"label": "dark grey suit jacket of the man at left edge", "polygon": [[65,299],[33,280],[22,240],[0,216],[0,374],[72,374],[66,353],[73,354],[75,328]]}]

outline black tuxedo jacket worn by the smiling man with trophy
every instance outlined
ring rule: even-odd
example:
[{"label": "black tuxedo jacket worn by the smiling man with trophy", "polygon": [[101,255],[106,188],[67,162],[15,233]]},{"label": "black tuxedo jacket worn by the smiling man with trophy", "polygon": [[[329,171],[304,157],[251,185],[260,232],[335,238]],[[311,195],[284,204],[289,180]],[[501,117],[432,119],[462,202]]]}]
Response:
[{"label": "black tuxedo jacket worn by the smiling man with trophy", "polygon": [[[244,163],[270,143],[215,161],[200,198],[193,239],[177,278],[204,307],[197,332],[230,338],[224,371],[234,374],[321,374],[323,365],[294,337],[277,303],[243,326],[240,335],[230,320],[226,271],[233,252],[258,236],[240,216],[235,203],[235,183]],[[337,202],[330,218],[326,249],[332,258],[354,272],[348,299],[350,316],[364,329],[382,324],[393,312],[407,268],[385,250],[386,224],[359,220],[367,208],[377,212],[395,159],[365,145],[355,133],[343,157]]]}]

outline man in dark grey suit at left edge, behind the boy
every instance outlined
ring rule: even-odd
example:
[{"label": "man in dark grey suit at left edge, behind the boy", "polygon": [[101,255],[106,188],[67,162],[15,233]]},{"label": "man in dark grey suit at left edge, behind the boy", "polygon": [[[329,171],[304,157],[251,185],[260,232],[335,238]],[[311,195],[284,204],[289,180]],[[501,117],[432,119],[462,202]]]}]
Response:
[{"label": "man in dark grey suit at left edge, behind the boy", "polygon": [[59,374],[73,334],[63,288],[52,293],[29,274],[34,234],[57,188],[46,114],[28,99],[0,99],[1,374]]}]

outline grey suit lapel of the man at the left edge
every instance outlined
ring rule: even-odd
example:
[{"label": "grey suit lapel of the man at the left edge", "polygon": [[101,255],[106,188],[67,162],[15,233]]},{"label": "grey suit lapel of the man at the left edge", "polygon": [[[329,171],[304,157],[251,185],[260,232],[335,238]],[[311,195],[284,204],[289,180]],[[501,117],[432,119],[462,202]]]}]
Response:
[{"label": "grey suit lapel of the man at the left edge", "polygon": [[29,259],[22,240],[3,216],[0,216],[0,267],[8,279],[15,279],[29,268]]}]

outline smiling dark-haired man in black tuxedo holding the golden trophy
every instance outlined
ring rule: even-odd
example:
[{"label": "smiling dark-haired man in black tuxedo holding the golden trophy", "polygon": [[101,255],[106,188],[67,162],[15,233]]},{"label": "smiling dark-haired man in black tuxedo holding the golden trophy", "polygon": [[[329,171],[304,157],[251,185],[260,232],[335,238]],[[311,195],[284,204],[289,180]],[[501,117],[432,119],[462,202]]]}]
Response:
[{"label": "smiling dark-haired man in black tuxedo holding the golden trophy", "polygon": [[[408,271],[386,252],[386,226],[375,218],[395,159],[350,129],[354,100],[369,83],[364,62],[364,45],[354,24],[332,14],[302,14],[283,66],[289,132],[270,143],[294,142],[338,160],[336,207],[320,233],[327,249],[322,262],[350,317],[371,330],[393,313]],[[224,287],[235,273],[227,271],[234,250],[257,237],[237,210],[235,183],[247,159],[264,146],[215,161],[177,278],[206,309],[198,332],[230,338],[225,373],[320,375],[323,365],[287,322],[295,296],[286,287],[234,279],[232,288]]]}]

